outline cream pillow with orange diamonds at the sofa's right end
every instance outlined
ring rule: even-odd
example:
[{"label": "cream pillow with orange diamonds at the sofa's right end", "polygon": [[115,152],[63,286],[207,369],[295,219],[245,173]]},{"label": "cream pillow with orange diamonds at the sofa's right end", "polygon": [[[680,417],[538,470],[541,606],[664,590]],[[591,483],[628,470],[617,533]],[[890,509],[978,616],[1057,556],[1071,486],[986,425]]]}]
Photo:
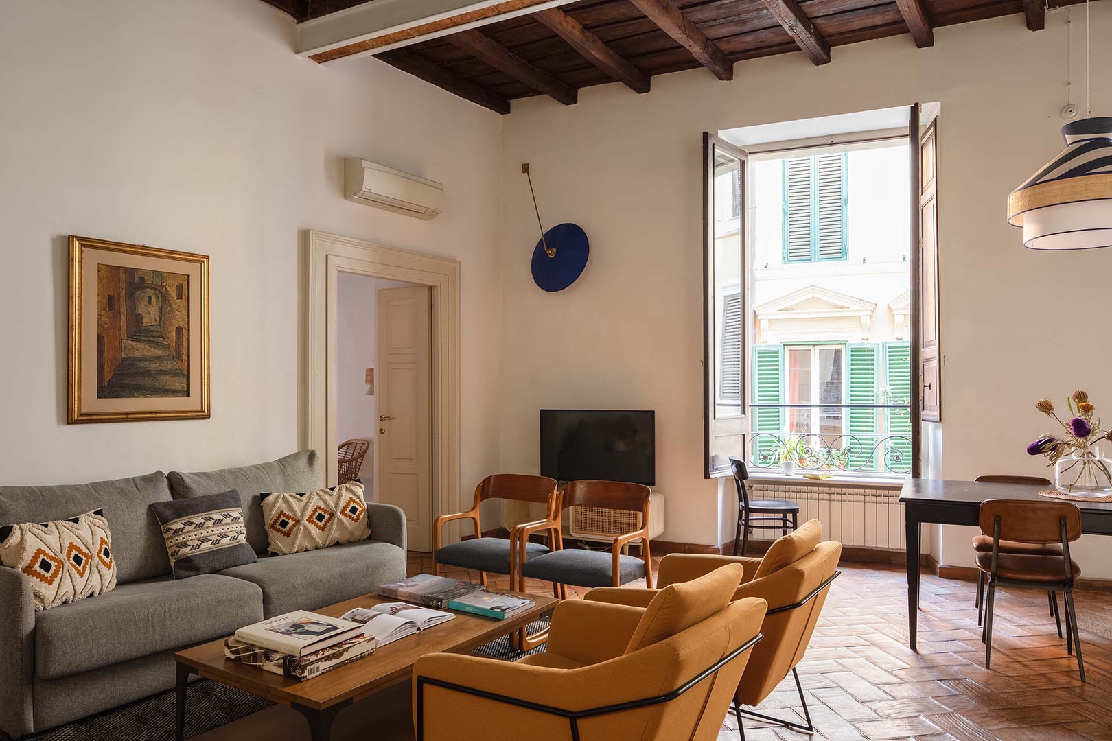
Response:
[{"label": "cream pillow with orange diamonds at the sofa's right end", "polygon": [[370,537],[363,484],[298,494],[262,494],[270,552],[287,555]]}]

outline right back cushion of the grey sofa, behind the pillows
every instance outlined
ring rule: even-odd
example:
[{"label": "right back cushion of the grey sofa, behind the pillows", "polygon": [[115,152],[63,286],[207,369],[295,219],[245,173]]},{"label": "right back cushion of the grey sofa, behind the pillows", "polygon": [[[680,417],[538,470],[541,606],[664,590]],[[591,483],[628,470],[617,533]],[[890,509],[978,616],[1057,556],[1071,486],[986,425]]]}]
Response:
[{"label": "right back cushion of the grey sofa, behind the pillows", "polygon": [[[325,472],[315,450],[302,450],[269,463],[242,465],[205,473],[171,471],[170,489],[175,499],[218,494],[235,489],[247,525],[247,542],[256,553],[267,550],[267,528],[262,520],[259,493],[312,491],[325,483]],[[111,524],[111,521],[109,521]]]}]

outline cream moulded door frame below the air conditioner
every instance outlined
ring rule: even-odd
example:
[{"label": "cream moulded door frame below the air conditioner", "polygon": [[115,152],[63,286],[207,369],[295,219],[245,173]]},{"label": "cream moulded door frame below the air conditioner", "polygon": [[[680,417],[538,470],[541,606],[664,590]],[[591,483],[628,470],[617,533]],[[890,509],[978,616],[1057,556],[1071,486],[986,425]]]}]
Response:
[{"label": "cream moulded door frame below the air conditioner", "polygon": [[337,297],[340,272],[429,287],[431,308],[431,515],[459,501],[459,261],[322,231],[306,232],[306,442],[337,482]]}]

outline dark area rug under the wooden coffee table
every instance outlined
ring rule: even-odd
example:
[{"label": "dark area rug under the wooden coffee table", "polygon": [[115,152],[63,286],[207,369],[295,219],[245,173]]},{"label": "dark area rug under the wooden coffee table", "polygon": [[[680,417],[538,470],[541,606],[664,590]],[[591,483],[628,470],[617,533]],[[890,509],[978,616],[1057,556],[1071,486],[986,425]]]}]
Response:
[{"label": "dark area rug under the wooden coffee table", "polygon": [[[535,633],[548,628],[543,618],[529,625]],[[544,644],[532,651],[518,651],[510,645],[509,635],[490,641],[475,649],[476,655],[516,661],[529,653],[544,651]],[[373,660],[373,659],[371,659]],[[27,737],[34,741],[167,741],[173,738],[175,691],[169,690],[131,704],[86,718],[51,731]],[[186,713],[186,738],[207,733],[240,718],[266,710],[272,703],[232,690],[209,680],[198,680],[189,685],[189,712]],[[0,733],[0,738],[3,734]]]}]

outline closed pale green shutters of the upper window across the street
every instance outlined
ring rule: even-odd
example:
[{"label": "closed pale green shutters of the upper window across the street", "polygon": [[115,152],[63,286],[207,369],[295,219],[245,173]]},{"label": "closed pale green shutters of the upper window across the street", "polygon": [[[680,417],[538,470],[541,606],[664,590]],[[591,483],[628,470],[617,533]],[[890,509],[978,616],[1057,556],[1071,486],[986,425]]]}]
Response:
[{"label": "closed pale green shutters of the upper window across the street", "polygon": [[845,152],[783,160],[784,262],[848,257],[847,163]]}]

